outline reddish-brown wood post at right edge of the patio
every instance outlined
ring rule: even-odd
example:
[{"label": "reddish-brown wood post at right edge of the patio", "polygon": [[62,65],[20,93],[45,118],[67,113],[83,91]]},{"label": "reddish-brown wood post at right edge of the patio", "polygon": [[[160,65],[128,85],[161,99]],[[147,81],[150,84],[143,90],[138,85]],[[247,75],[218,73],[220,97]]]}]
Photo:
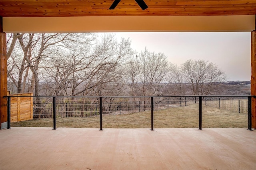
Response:
[{"label": "reddish-brown wood post at right edge of the patio", "polygon": [[[256,95],[256,30],[252,31],[251,50],[251,95]],[[252,97],[252,128],[256,128],[256,98],[254,97]]]}]

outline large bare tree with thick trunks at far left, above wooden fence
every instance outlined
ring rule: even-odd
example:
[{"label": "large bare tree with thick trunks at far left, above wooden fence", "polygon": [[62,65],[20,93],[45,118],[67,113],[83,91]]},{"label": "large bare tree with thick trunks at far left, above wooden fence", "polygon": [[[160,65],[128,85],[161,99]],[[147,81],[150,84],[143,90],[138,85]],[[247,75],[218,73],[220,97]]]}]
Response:
[{"label": "large bare tree with thick trunks at far left, above wooden fence", "polygon": [[[93,34],[78,34],[78,33],[66,33],[66,34],[13,34],[12,42],[10,43],[9,51],[12,53],[14,40],[18,40],[19,44],[16,47],[20,47],[20,53],[23,57],[12,55],[13,62],[16,63],[16,69],[18,69],[17,89],[18,93],[24,92],[25,85],[29,70],[32,72],[32,82],[28,91],[33,91],[35,95],[39,95],[39,69],[41,61],[45,58],[52,56],[53,53],[58,51],[65,51],[66,49],[72,49],[77,43],[91,43],[95,38]],[[9,53],[8,51],[8,53]],[[22,51],[22,52],[21,52]],[[12,64],[13,65],[13,64]],[[11,67],[10,70],[13,71]],[[26,71],[25,71],[26,70]],[[25,71],[25,73],[24,73]],[[13,81],[12,72],[9,71],[9,77]],[[23,80],[23,82],[22,82]]]}]

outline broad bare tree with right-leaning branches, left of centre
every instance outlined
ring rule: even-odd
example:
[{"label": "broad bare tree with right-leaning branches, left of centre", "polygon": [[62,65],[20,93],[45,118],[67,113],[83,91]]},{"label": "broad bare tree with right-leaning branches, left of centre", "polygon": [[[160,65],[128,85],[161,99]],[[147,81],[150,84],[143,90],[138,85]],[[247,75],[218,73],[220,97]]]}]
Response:
[{"label": "broad bare tree with right-leaning branches, left of centre", "polygon": [[121,67],[132,53],[129,39],[118,42],[114,34],[106,34],[96,44],[79,44],[51,57],[45,70],[54,80],[56,95],[106,95],[111,91],[106,89],[123,86]]}]

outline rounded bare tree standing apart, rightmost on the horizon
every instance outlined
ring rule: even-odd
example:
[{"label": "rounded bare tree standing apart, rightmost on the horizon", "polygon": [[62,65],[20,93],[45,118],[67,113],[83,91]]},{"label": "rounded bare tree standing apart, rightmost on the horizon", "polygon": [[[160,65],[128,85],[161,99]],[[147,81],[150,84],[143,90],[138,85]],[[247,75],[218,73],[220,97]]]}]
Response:
[{"label": "rounded bare tree standing apart, rightmost on the horizon", "polygon": [[189,59],[180,67],[185,83],[190,83],[192,95],[208,95],[226,80],[225,73],[214,63]]}]

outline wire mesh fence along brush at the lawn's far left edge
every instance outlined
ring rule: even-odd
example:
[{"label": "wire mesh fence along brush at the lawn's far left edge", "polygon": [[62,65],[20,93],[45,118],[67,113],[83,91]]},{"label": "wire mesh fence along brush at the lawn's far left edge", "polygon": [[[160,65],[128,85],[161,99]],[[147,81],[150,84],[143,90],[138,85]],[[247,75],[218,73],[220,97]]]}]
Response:
[{"label": "wire mesh fence along brush at the lawn's far left edge", "polygon": [[[154,97],[154,110],[184,107],[198,102],[195,97]],[[104,97],[102,115],[123,115],[151,110],[150,97]],[[100,101],[97,97],[56,97],[56,117],[97,117]],[[52,97],[34,99],[33,118],[48,119],[53,116]]]}]

